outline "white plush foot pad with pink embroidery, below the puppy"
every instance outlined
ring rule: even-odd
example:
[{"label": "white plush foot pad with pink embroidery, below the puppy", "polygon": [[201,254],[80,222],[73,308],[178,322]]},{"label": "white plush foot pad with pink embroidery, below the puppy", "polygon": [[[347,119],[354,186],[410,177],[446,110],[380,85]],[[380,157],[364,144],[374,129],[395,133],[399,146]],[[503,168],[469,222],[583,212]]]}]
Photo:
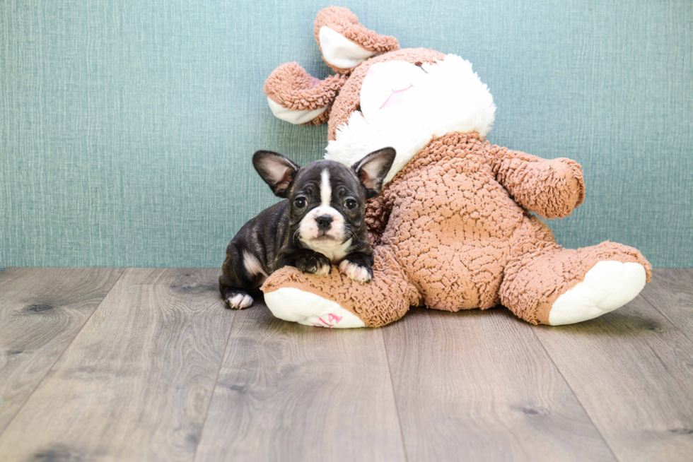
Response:
[{"label": "white plush foot pad with pink embroidery, below the puppy", "polygon": [[269,311],[279,319],[304,326],[353,328],[366,327],[354,313],[310,292],[281,288],[264,294]]}]

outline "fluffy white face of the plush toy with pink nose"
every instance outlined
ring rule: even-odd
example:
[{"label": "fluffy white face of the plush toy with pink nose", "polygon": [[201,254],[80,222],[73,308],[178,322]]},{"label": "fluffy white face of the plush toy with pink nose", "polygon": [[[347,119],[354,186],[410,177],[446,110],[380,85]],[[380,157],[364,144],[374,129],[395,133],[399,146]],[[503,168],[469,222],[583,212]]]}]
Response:
[{"label": "fluffy white face of the plush toy with pink nose", "polygon": [[326,159],[351,165],[364,152],[397,151],[390,181],[431,138],[459,131],[491,130],[496,107],[469,61],[448,54],[421,66],[407,61],[373,64],[363,79],[361,110],[337,128]]}]

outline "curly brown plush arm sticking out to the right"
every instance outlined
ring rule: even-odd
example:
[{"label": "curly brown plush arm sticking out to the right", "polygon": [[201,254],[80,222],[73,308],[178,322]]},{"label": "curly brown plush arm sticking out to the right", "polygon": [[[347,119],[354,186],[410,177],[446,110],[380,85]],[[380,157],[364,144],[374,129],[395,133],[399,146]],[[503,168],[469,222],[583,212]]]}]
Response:
[{"label": "curly brown plush arm sticking out to the right", "polygon": [[585,199],[585,182],[578,162],[546,160],[519,151],[491,147],[496,179],[520,206],[543,218],[563,218]]}]

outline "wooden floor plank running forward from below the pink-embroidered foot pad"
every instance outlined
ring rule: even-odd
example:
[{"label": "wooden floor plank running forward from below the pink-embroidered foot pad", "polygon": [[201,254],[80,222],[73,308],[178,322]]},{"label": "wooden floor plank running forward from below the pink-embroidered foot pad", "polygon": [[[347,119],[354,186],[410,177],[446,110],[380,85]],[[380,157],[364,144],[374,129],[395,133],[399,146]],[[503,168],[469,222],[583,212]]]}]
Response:
[{"label": "wooden floor plank running forward from below the pink-embroidered foot pad", "polygon": [[238,312],[196,461],[404,461],[382,332]]}]

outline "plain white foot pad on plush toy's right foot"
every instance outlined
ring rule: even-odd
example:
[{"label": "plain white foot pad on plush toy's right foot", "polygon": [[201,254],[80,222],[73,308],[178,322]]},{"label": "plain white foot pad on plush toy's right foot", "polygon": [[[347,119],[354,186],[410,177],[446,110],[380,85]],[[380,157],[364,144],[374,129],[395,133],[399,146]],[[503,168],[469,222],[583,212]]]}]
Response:
[{"label": "plain white foot pad on plush toy's right foot", "polygon": [[640,293],[645,280],[640,263],[600,261],[581,283],[558,297],[549,311],[549,324],[575,324],[620,308]]}]

